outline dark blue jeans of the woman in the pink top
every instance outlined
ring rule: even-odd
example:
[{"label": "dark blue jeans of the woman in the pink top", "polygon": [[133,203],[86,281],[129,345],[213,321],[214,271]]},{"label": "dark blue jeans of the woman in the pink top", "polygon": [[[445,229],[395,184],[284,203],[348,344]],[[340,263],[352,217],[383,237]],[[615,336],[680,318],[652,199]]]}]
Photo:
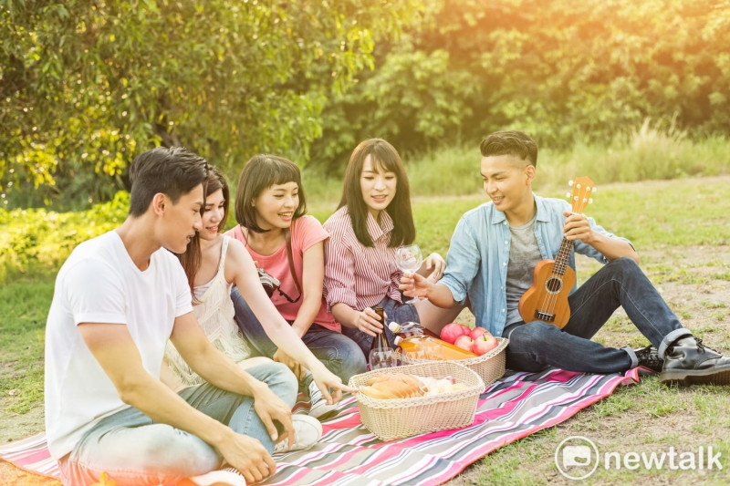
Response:
[{"label": "dark blue jeans of the woman in the pink top", "polygon": [[[234,301],[235,322],[241,328],[252,350],[258,356],[273,357],[276,345],[266,335],[264,327],[237,288],[231,292],[231,299]],[[358,345],[348,336],[313,324],[309,326],[302,341],[329,371],[342,379],[343,383],[347,383],[349,377],[365,372],[365,357],[360,353]],[[307,373],[302,388],[307,389],[311,380],[311,375]]]}]

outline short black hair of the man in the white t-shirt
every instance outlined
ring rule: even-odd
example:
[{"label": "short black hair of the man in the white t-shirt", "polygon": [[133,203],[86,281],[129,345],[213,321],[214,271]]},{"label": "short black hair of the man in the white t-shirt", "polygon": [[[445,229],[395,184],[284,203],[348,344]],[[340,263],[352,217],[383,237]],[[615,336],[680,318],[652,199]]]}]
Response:
[{"label": "short black hair of the man in the white t-shirt", "polygon": [[138,155],[130,165],[130,216],[147,212],[160,192],[177,203],[205,181],[207,167],[203,157],[183,147],[157,147]]}]

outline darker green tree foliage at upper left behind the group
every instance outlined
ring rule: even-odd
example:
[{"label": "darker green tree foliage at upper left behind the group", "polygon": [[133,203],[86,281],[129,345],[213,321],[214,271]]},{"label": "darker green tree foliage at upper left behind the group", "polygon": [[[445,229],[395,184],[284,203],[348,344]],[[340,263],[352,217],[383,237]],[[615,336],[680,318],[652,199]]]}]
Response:
[{"label": "darker green tree foliage at upper left behind the group", "polygon": [[108,200],[158,144],[224,170],[261,151],[304,160],[326,99],[417,5],[0,0],[3,198]]}]

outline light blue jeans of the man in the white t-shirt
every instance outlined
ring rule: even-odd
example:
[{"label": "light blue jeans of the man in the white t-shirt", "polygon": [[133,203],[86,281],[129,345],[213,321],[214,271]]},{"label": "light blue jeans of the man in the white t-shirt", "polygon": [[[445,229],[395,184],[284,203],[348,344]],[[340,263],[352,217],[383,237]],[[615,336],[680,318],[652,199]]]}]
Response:
[{"label": "light blue jeans of the man in the white t-shirt", "polygon": [[[297,380],[286,366],[272,362],[246,371],[294,406]],[[255,413],[253,398],[208,383],[183,388],[178,395],[205,415],[260,440],[269,453],[273,452],[274,443]],[[99,420],[58,465],[64,484],[92,484],[106,471],[117,486],[140,486],[175,483],[215,470],[221,462],[218,451],[203,439],[154,423],[130,407]]]}]

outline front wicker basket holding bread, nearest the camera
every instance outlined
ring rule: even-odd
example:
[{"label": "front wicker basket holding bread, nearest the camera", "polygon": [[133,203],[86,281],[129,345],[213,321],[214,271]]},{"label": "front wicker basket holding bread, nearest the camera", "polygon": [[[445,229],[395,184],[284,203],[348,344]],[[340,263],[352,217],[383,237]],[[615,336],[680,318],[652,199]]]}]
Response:
[{"label": "front wicker basket holding bread, nearest the camera", "polygon": [[485,389],[482,378],[454,361],[431,361],[402,367],[386,367],[349,378],[350,387],[368,385],[370,377],[407,373],[421,377],[454,377],[466,388],[416,398],[371,398],[358,393],[360,419],[381,440],[401,439],[426,432],[457,429],[474,422],[479,394]]}]

